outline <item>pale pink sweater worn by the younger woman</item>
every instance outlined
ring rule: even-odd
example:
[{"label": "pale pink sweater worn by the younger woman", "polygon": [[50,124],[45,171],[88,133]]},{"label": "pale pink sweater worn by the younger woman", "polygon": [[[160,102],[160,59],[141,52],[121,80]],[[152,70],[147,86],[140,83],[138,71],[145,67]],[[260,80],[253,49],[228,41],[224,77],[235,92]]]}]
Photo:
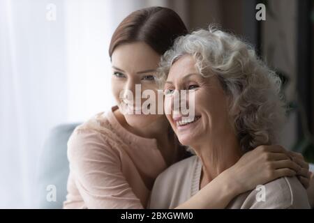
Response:
[{"label": "pale pink sweater worn by the younger woman", "polygon": [[114,109],[96,114],[70,136],[63,208],[144,208],[154,180],[167,168],[156,139],[128,132]]}]

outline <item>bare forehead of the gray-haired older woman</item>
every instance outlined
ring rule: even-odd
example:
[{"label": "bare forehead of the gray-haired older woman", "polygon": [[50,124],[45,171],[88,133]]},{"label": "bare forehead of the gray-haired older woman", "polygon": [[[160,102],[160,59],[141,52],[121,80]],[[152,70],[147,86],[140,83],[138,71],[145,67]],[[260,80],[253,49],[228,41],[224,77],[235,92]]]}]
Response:
[{"label": "bare forehead of the gray-haired older woman", "polygon": [[178,77],[184,77],[190,73],[197,73],[198,70],[195,66],[195,59],[191,55],[181,56],[177,61],[175,61],[170,70],[167,80],[173,80]]}]

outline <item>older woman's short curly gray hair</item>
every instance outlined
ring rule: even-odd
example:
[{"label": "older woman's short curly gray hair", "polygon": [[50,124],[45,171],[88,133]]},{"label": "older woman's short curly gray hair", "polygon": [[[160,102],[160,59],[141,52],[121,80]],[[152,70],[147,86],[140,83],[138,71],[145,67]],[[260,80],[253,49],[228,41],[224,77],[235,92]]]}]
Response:
[{"label": "older woman's short curly gray hair", "polygon": [[200,75],[216,75],[230,96],[230,121],[244,152],[277,142],[285,118],[281,79],[258,59],[251,45],[215,27],[181,36],[162,56],[161,83],[185,54],[194,57]]}]

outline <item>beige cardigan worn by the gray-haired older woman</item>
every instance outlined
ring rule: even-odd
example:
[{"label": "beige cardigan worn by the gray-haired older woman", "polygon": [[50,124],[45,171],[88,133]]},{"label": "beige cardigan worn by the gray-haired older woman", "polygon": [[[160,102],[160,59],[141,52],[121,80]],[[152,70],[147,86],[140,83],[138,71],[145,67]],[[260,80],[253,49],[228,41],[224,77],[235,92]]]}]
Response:
[{"label": "beige cardigan worn by the gray-haired older woman", "polygon": [[[154,183],[149,208],[175,208],[190,199],[200,190],[201,171],[196,155],[163,171]],[[261,190],[252,190],[235,197],[226,208],[310,208],[306,190],[295,177],[278,178],[264,186],[264,201],[258,199]]]}]

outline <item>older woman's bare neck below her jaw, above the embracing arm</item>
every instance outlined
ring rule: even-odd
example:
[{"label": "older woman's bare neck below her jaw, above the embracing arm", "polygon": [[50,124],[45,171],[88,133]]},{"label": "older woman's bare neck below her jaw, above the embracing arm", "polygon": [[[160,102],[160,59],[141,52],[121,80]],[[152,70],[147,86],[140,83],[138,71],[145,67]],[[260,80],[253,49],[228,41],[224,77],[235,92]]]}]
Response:
[{"label": "older woman's bare neck below her jaw, above the embracing arm", "polygon": [[233,132],[210,137],[205,144],[193,149],[202,161],[202,184],[207,184],[241,157],[241,149]]}]

